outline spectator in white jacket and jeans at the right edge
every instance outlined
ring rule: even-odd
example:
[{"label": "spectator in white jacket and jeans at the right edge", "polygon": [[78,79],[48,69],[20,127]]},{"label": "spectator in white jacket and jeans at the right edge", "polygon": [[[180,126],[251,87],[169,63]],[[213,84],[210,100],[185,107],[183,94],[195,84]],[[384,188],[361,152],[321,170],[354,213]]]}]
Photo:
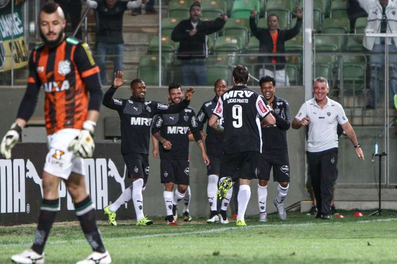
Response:
[{"label": "spectator in white jacket and jeans at the right edge", "polygon": [[[397,4],[389,0],[357,0],[360,6],[368,13],[365,32],[397,33]],[[384,72],[385,38],[364,37],[363,46],[367,50],[377,53],[369,56],[370,82],[369,101],[367,109],[374,109],[380,98],[379,76]],[[389,107],[394,108],[393,97],[397,93],[397,37],[387,40],[389,56]]]}]

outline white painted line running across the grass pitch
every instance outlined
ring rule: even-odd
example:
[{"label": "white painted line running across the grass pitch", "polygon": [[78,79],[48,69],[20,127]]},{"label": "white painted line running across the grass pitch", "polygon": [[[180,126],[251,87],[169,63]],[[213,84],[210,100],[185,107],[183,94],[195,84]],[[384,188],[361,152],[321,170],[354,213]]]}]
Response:
[{"label": "white painted line running across the grass pitch", "polygon": [[[246,227],[221,227],[221,228],[214,228],[209,230],[200,230],[200,231],[190,231],[190,232],[178,232],[178,233],[161,233],[161,234],[151,234],[151,235],[137,235],[137,236],[130,236],[130,237],[110,237],[106,240],[125,240],[126,238],[131,239],[145,239],[145,238],[155,238],[155,237],[172,237],[172,236],[184,236],[184,235],[197,235],[197,234],[213,234],[213,233],[220,233],[229,230],[236,230],[236,229],[251,229],[251,228],[269,228],[269,227],[305,227],[305,226],[314,226],[314,225],[341,225],[341,224],[366,224],[366,223],[374,223],[374,222],[390,222],[390,221],[397,221],[397,218],[386,218],[386,219],[376,219],[376,220],[364,220],[364,221],[357,221],[357,222],[336,222],[336,223],[302,223],[302,224],[264,224],[264,225],[252,225]],[[74,240],[54,240],[48,241],[47,245],[65,245],[65,244],[83,244],[86,243],[85,239],[74,239]],[[9,246],[30,246],[31,243],[14,243],[14,244],[2,244],[0,248],[9,247]]]}]

